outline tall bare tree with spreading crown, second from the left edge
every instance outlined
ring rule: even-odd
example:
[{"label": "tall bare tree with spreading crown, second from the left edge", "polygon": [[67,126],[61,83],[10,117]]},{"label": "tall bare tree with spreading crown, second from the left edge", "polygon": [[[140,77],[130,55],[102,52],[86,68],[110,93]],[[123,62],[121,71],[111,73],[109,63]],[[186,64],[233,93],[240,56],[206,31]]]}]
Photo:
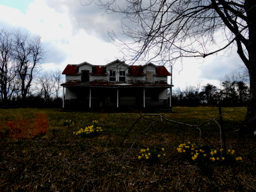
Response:
[{"label": "tall bare tree with spreading crown, second from the left edge", "polygon": [[30,35],[21,30],[14,30],[13,38],[13,57],[18,78],[21,81],[22,100],[25,101],[32,81],[39,72],[40,62],[44,61],[46,51],[42,47],[39,35]]}]

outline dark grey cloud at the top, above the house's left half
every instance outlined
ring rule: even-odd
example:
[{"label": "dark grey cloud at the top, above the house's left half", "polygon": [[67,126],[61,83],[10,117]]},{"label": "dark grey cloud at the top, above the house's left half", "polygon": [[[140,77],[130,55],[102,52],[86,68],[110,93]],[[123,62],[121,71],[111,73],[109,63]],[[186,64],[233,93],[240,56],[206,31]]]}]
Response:
[{"label": "dark grey cloud at the top, above the house's left half", "polygon": [[[61,3],[57,0],[46,0],[47,6],[54,9],[59,13],[68,12],[70,22],[73,27],[73,34],[79,33],[81,30],[89,35],[95,36],[100,40],[108,40],[108,30],[114,32],[121,32],[122,18],[119,14],[103,14],[104,10],[99,6],[92,3],[89,6],[83,6],[89,1],[87,0],[63,0]],[[127,25],[134,25],[133,23],[127,23]],[[124,35],[121,38],[125,38]]]}]

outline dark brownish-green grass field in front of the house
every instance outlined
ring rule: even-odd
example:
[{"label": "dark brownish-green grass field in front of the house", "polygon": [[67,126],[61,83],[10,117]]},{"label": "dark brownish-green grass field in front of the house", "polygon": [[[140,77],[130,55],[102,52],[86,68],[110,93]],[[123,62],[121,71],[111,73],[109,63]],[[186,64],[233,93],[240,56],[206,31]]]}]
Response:
[{"label": "dark brownish-green grass field in front of the house", "polygon": [[[159,117],[138,121],[120,146],[126,131],[139,118],[138,113],[0,109],[0,191],[255,191],[256,139],[234,131],[243,126],[247,111],[234,109],[223,108],[230,111],[223,116],[227,148],[236,151],[234,158],[243,160],[215,161],[208,165],[209,169],[177,152],[181,143],[197,145],[199,130],[184,131],[188,127],[166,121],[140,135],[137,145],[118,166],[138,133],[152,121],[159,121]],[[211,107],[174,107],[173,110],[160,114],[190,125],[200,125],[219,116],[218,108]],[[102,132],[92,138],[74,134],[92,125],[94,120]],[[74,124],[67,125],[67,121]],[[9,130],[10,127],[18,133]],[[210,122],[200,129],[205,139],[201,139],[200,145],[210,144],[212,149],[214,146],[220,149],[217,123]],[[147,147],[161,154],[156,163],[138,159],[140,150]]]}]

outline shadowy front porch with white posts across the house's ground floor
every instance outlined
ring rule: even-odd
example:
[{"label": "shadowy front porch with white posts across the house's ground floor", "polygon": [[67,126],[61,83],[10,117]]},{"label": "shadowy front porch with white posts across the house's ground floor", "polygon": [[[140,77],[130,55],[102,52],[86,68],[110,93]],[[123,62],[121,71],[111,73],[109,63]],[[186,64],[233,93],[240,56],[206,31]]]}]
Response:
[{"label": "shadowy front porch with white posts across the house's ground floor", "polygon": [[166,84],[154,87],[145,84],[133,87],[124,87],[123,84],[109,87],[73,85],[63,87],[63,95],[66,95],[63,98],[64,110],[171,108]]}]

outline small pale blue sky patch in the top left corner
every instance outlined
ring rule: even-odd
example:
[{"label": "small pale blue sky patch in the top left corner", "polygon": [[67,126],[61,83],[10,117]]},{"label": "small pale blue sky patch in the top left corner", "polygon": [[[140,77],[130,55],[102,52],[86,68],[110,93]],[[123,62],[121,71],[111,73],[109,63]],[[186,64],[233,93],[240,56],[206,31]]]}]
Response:
[{"label": "small pale blue sky patch in the top left corner", "polygon": [[0,0],[0,5],[5,5],[11,8],[18,9],[23,14],[26,14],[29,4],[34,3],[33,0]]}]

